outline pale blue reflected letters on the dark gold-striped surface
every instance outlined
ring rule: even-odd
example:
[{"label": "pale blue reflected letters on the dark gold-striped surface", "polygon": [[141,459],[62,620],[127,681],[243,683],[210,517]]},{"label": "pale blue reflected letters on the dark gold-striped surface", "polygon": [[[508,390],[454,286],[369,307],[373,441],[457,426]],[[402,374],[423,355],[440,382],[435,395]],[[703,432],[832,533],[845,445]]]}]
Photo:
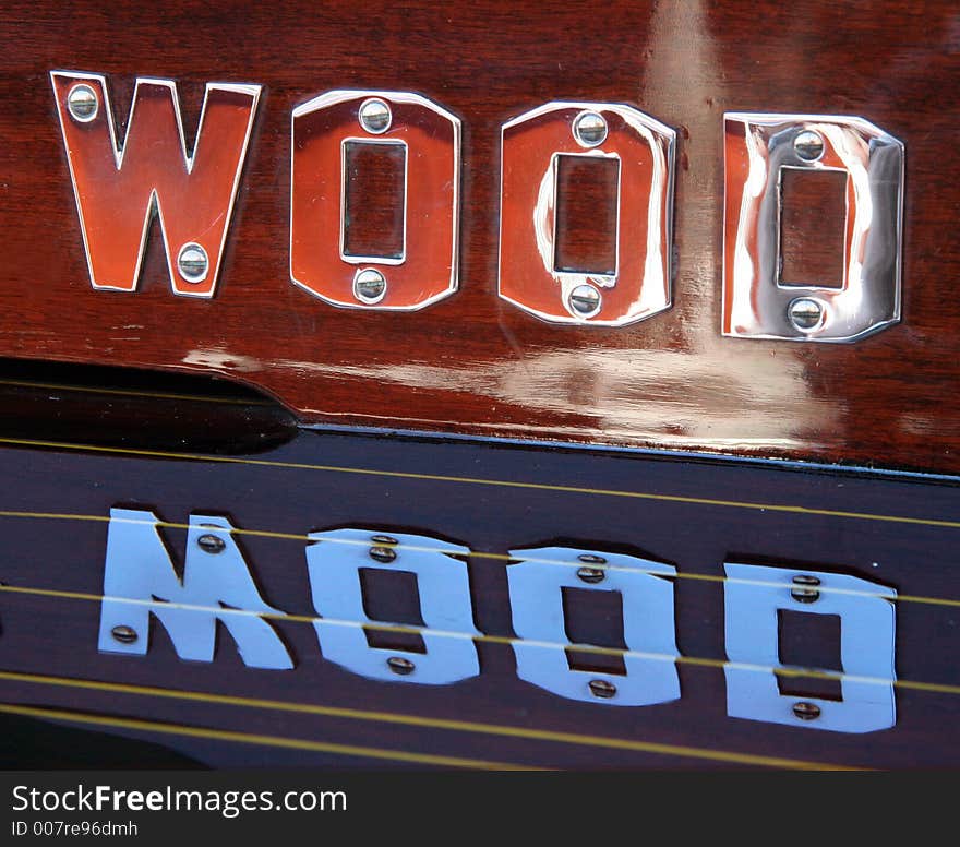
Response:
[{"label": "pale blue reflected letters on the dark gold-striped surface", "polygon": [[[275,627],[287,615],[261,596],[224,517],[191,515],[182,576],[149,511],[112,509],[107,535],[98,646],[146,655],[149,616],[166,629],[177,655],[213,661],[220,622],[249,667],[290,669]],[[481,673],[467,559],[470,549],[429,536],[334,529],[311,533],[307,572],[323,656],[367,679],[445,685]],[[676,663],[673,565],[605,550],[568,547],[509,551],[511,646],[517,676],[567,700],[610,706],[669,703],[681,696]],[[731,717],[839,732],[896,724],[895,609],[885,585],[823,571],[725,563],[723,582],[728,714]],[[380,621],[367,612],[361,574],[412,576],[422,627]],[[598,649],[567,636],[565,589],[614,592],[623,617],[623,671],[580,669],[568,651]],[[779,612],[836,616],[842,673],[780,661]],[[298,616],[302,621],[302,617]],[[368,630],[416,631],[422,649],[377,647]],[[600,649],[603,649],[600,647]],[[609,651],[608,651],[609,652]],[[781,693],[778,670],[838,679],[841,700]]]}]

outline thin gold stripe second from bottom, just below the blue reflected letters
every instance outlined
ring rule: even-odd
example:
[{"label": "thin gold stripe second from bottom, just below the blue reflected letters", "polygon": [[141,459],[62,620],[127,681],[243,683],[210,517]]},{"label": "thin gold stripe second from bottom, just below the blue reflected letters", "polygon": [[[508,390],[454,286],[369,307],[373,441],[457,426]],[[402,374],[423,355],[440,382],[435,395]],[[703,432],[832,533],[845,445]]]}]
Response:
[{"label": "thin gold stripe second from bottom, just below the blue reflected letters", "polygon": [[610,750],[621,750],[627,752],[685,756],[713,762],[724,762],[728,764],[759,765],[764,767],[784,767],[804,771],[862,770],[857,767],[850,767],[847,765],[833,765],[825,764],[821,762],[807,762],[797,759],[781,759],[777,756],[753,755],[749,753],[734,753],[724,750],[709,750],[706,748],[688,745],[661,744],[652,741],[635,741],[624,738],[609,738],[604,736],[590,736],[575,732],[556,732],[549,729],[530,729],[527,727],[503,726],[499,724],[481,724],[469,720],[448,720],[443,718],[420,717],[417,715],[404,715],[395,712],[376,712],[336,706],[321,706],[313,703],[290,703],[277,700],[260,700],[253,697],[233,696],[228,694],[212,694],[200,691],[177,691],[175,689],[153,688],[147,685],[97,682],[95,680],[71,679],[69,677],[49,677],[33,673],[17,673],[14,671],[0,671],[0,679],[13,682],[32,682],[41,685],[59,685],[63,688],[87,689],[117,694],[133,694],[137,696],[155,696],[172,700],[184,700],[213,705],[243,706],[248,708],[263,708],[272,712],[291,712],[298,714],[320,715],[323,717],[398,724],[401,726],[425,727],[430,729],[446,729],[455,732],[471,732],[489,736],[501,736],[506,738],[550,741],[562,744],[605,748]]}]

